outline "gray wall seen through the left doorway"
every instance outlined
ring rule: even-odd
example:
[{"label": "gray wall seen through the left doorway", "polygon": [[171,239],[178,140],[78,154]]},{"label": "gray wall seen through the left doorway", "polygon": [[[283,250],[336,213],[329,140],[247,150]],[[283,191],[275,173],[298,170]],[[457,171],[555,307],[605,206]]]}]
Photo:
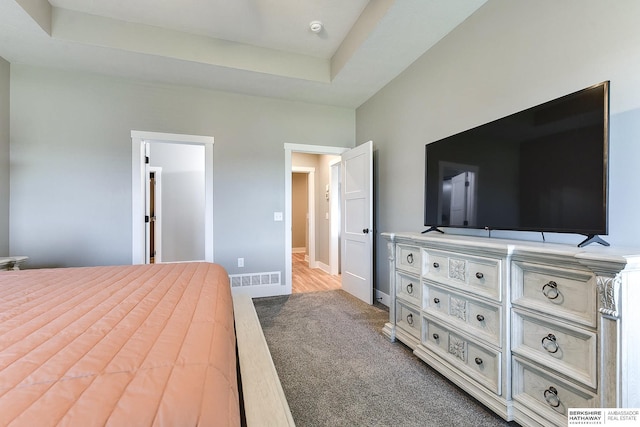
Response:
[{"label": "gray wall seen through the left doorway", "polygon": [[162,168],[161,260],[204,260],[204,146],[152,142],[149,165]]}]

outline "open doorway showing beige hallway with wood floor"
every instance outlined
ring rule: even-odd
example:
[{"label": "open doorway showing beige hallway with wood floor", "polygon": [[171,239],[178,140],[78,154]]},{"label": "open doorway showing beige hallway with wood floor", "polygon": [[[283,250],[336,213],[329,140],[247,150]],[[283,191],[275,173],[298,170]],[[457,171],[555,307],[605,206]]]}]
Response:
[{"label": "open doorway showing beige hallway with wood floor", "polygon": [[291,156],[292,293],[340,289],[340,157]]}]

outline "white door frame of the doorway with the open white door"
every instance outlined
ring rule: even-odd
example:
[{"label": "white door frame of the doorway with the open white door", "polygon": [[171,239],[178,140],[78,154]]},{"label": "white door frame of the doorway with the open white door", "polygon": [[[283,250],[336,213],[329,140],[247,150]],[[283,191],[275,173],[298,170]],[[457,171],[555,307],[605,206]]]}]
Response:
[{"label": "white door frame of the doorway with the open white door", "polygon": [[[284,215],[284,258],[285,258],[285,294],[291,293],[292,274],[291,274],[291,154],[292,153],[307,153],[307,154],[328,154],[333,156],[339,156],[345,151],[348,151],[348,147],[335,147],[330,145],[307,145],[307,144],[284,144],[284,203],[285,203],[285,215]],[[315,249],[314,249],[315,251]],[[311,252],[311,248],[309,248]]]}]

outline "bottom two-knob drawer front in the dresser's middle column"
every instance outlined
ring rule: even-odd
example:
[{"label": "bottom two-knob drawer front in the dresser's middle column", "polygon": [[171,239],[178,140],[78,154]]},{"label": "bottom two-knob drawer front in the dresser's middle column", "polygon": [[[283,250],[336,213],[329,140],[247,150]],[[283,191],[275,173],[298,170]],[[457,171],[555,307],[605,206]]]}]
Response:
[{"label": "bottom two-knob drawer front in the dresser's middle column", "polygon": [[422,344],[425,347],[493,393],[502,393],[502,353],[480,346],[427,317],[422,321]]}]

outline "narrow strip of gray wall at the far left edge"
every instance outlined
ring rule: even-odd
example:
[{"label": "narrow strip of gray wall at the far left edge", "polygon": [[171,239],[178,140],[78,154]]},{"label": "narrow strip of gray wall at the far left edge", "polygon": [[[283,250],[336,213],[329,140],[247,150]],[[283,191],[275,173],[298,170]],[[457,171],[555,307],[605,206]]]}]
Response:
[{"label": "narrow strip of gray wall at the far left edge", "polygon": [[9,76],[0,58],[0,257],[9,255]]}]

